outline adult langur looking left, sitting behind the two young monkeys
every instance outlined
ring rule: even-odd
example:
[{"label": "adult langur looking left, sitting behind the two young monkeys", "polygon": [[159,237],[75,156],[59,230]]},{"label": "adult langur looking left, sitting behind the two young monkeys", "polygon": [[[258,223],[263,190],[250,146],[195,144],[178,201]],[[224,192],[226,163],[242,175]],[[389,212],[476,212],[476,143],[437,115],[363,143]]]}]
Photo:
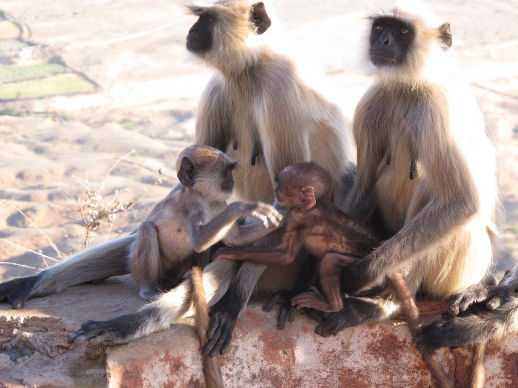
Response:
[{"label": "adult langur looking left, sitting behind the two young monkeys", "polygon": [[[334,199],[341,198],[352,186],[355,171],[343,115],[297,76],[289,58],[267,46],[251,44],[271,24],[265,5],[227,0],[190,6],[189,10],[198,20],[189,31],[186,46],[216,70],[200,100],[195,143],[217,147],[239,162],[237,196],[273,201],[276,174],[287,166],[313,160],[330,175]],[[279,235],[273,232],[267,238],[256,244],[275,244]],[[284,268],[253,263],[239,266],[229,260],[207,265],[203,285],[212,323],[205,351],[223,353],[252,293],[271,296],[291,288],[303,261],[299,255]],[[192,313],[190,290],[188,279],[133,315],[85,323],[73,338],[120,343],[167,329]],[[305,290],[281,298],[282,324],[291,309],[291,296],[301,291]]]}]

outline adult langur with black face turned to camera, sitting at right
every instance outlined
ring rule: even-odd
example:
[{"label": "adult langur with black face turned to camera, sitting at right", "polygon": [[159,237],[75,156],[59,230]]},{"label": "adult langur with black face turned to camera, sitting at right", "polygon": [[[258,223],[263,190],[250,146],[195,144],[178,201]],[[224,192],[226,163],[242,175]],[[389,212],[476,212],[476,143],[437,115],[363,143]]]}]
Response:
[{"label": "adult langur with black face turned to camera, sitting at right", "polygon": [[[346,268],[349,294],[400,270],[413,294],[442,299],[482,281],[492,263],[495,149],[448,59],[450,25],[412,5],[370,17],[366,56],[377,80],[355,111],[357,179],[343,210],[364,220],[378,205],[394,235]],[[347,297],[316,333],[386,319],[398,307],[391,296]]]}]

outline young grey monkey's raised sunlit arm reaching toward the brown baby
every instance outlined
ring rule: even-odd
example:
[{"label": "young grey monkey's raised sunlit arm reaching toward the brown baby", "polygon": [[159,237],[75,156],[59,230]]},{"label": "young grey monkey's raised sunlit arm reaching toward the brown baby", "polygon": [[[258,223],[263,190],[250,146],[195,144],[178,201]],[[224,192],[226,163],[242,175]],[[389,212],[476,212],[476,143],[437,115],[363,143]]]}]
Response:
[{"label": "young grey monkey's raised sunlit arm reaching toward the brown baby", "polygon": [[275,207],[262,202],[234,202],[223,212],[204,224],[206,217],[202,210],[189,212],[186,231],[196,252],[202,252],[220,241],[234,223],[242,216],[252,216],[263,221],[264,228],[279,226],[282,218]]}]

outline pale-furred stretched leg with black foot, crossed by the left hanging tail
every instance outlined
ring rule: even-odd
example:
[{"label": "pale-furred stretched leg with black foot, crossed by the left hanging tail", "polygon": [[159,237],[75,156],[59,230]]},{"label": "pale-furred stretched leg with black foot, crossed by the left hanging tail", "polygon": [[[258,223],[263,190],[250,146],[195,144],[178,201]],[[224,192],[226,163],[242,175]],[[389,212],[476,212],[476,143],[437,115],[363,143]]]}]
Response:
[{"label": "pale-furred stretched leg with black foot, crossed by the left hanging tail", "polygon": [[[220,260],[203,270],[203,287],[208,306],[213,306],[227,291],[236,273],[237,263]],[[134,314],[123,315],[108,321],[87,321],[81,329],[69,334],[68,342],[94,340],[106,344],[123,344],[168,329],[180,318],[192,314],[191,279],[164,293],[159,299],[142,307]]]}]

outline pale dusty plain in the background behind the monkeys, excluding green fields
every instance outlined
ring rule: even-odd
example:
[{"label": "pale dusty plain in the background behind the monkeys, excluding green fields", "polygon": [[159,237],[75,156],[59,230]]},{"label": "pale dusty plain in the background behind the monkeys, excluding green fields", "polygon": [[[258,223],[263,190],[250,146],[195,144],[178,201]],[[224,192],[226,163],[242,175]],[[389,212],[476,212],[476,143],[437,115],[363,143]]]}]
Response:
[{"label": "pale dusty plain in the background behind the monkeys, excluding green fields", "polygon": [[[514,0],[431,1],[453,26],[453,54],[465,69],[498,142],[505,215],[500,267],[518,256],[518,3]],[[391,2],[275,2],[285,46],[300,63],[324,73],[327,93],[348,118],[369,83],[357,71],[354,50],[364,32],[362,17]],[[193,18],[170,0],[0,0],[31,29],[31,40],[52,46],[67,65],[101,86],[90,95],[5,104],[26,116],[0,116],[0,199],[31,216],[69,252],[84,228],[65,191],[81,186],[71,175],[100,180],[118,157],[106,193],[129,188],[139,195],[165,167],[164,183],[150,189],[135,212],[119,216],[111,234],[131,229],[175,184],[173,162],[191,142],[197,100],[210,71],[188,61],[186,31]],[[304,53],[304,54],[301,54]],[[129,198],[130,193],[125,193]],[[7,204],[0,204],[0,237],[31,249],[53,250],[44,237]],[[44,267],[33,253],[0,241],[0,261]],[[0,280],[27,275],[30,268],[0,265]]]}]

